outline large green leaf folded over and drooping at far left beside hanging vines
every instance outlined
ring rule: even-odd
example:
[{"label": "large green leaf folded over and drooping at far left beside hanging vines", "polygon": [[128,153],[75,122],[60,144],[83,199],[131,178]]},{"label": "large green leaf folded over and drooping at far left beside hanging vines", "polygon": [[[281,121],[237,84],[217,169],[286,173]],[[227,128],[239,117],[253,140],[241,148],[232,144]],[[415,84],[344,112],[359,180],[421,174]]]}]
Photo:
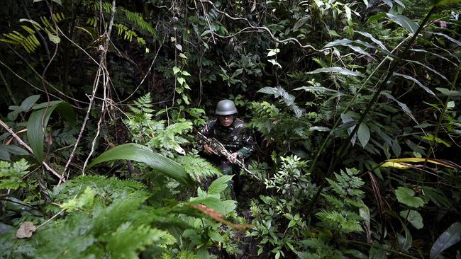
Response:
[{"label": "large green leaf folded over and drooping at far left beside hanging vines", "polygon": [[41,163],[43,161],[43,139],[45,139],[43,129],[48,125],[51,113],[56,110],[57,113],[60,113],[62,118],[70,123],[70,125],[75,124],[75,114],[72,106],[62,100],[55,100],[50,103],[40,103],[33,106],[32,109],[34,111],[30,114],[27,122],[27,138],[30,148],[33,150],[33,154],[35,154],[35,157]]}]

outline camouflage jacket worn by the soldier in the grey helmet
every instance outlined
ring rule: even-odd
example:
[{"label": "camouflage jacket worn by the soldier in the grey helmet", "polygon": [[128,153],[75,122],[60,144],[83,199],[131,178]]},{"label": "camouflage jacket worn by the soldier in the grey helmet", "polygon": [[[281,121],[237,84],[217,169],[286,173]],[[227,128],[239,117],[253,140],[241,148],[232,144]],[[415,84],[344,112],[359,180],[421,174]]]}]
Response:
[{"label": "camouflage jacket worn by the soldier in the grey helmet", "polygon": [[250,131],[240,119],[235,119],[229,127],[223,127],[218,119],[211,120],[200,132],[206,137],[216,138],[231,153],[238,152],[239,158],[250,156],[255,146]]}]

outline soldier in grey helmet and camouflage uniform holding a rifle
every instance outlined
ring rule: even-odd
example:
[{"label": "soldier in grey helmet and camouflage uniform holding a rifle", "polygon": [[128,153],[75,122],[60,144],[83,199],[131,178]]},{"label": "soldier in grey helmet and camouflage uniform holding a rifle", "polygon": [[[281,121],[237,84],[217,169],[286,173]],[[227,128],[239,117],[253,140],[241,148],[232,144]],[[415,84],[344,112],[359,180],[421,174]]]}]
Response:
[{"label": "soldier in grey helmet and camouflage uniform holding a rifle", "polygon": [[[217,118],[208,122],[204,129],[201,129],[201,134],[204,134],[205,137],[214,137],[218,142],[221,142],[232,153],[234,159],[243,160],[250,156],[254,142],[250,131],[245,128],[243,120],[235,117],[237,108],[235,108],[233,101],[219,101],[216,105],[215,114]],[[218,153],[207,144],[204,144],[204,151],[206,154],[218,156]],[[219,159],[218,164],[223,169],[224,174],[238,173],[239,168],[230,161],[231,159],[228,160],[223,157],[219,157]],[[238,175],[233,178],[238,185]],[[234,190],[231,191],[235,200]]]}]

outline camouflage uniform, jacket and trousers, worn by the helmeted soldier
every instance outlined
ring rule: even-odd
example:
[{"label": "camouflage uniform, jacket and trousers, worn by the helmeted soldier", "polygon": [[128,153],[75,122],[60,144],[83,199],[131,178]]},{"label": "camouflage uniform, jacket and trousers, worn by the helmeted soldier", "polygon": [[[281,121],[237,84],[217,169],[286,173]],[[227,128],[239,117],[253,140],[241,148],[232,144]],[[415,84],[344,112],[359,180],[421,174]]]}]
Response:
[{"label": "camouflage uniform, jacket and trousers, worn by the helmeted soldier", "polygon": [[[234,119],[229,127],[223,127],[218,119],[211,120],[200,132],[206,137],[216,138],[230,153],[238,152],[238,159],[240,160],[250,156],[255,146],[250,131],[245,128],[245,123],[237,118]],[[240,168],[230,163],[226,158],[219,156],[219,159],[218,164],[224,174],[231,175],[232,173],[240,172]],[[235,175],[233,179],[238,182],[238,175]],[[230,196],[235,200],[233,186],[228,189],[230,190]]]}]

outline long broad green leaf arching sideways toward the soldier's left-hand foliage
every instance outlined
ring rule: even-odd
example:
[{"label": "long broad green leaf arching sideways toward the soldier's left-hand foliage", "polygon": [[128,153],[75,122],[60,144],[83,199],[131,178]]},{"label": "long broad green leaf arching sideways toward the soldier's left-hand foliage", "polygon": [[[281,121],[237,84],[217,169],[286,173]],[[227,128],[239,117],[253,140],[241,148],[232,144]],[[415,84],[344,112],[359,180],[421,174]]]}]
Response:
[{"label": "long broad green leaf arching sideways toward the soldier's left-hand foliage", "polygon": [[176,163],[165,156],[154,153],[152,150],[148,149],[148,147],[140,144],[128,143],[109,149],[91,161],[87,168],[90,168],[98,163],[121,159],[146,163],[160,173],[163,173],[180,183],[184,183],[184,185],[194,187],[194,180],[192,180],[190,175],[181,165],[179,165],[179,163]]}]

